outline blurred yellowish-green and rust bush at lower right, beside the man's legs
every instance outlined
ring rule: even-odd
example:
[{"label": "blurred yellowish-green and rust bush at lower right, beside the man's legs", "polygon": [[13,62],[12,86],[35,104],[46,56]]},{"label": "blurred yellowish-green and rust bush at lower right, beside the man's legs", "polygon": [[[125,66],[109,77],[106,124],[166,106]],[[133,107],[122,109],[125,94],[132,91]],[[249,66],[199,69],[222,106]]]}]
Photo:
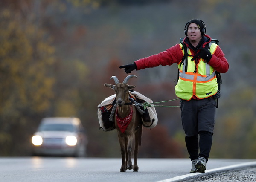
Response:
[{"label": "blurred yellowish-green and rust bush at lower right, beside the man's legs", "polygon": [[226,114],[215,123],[212,151],[215,157],[254,158],[256,88],[242,88],[228,100],[221,106]]}]

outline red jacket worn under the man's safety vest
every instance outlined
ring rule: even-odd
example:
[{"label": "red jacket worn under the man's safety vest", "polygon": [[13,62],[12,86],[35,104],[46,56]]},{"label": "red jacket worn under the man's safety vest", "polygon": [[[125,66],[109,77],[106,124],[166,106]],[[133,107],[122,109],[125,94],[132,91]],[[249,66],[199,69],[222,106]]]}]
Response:
[{"label": "red jacket worn under the man's safety vest", "polygon": [[[205,37],[209,38],[209,41],[211,41],[211,38],[208,35],[204,35]],[[187,37],[186,37],[187,38]],[[186,39],[185,38],[185,39]],[[186,42],[184,39],[184,42]],[[205,42],[203,44],[203,47],[208,42]],[[187,47],[189,45],[187,44]],[[198,49],[199,51],[200,49]],[[191,49],[192,55],[196,55],[197,52],[193,51]],[[227,72],[229,68],[229,64],[227,62],[227,59],[224,57],[224,53],[222,52],[221,48],[218,46],[214,54],[212,55],[212,58],[208,62],[210,66],[212,66],[216,71],[225,73]],[[172,65],[173,63],[179,63],[183,58],[183,52],[180,48],[179,44],[176,44],[175,46],[170,47],[164,52],[160,52],[156,55],[151,55],[147,58],[142,58],[137,61],[135,61],[135,64],[137,66],[137,70],[145,69],[145,68],[152,68],[159,65],[166,66],[166,65]]]}]

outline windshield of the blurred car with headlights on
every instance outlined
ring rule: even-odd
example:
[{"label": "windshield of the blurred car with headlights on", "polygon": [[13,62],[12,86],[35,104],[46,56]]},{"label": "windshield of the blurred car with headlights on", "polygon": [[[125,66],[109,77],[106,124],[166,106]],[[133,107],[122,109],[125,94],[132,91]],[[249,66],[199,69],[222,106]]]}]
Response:
[{"label": "windshield of the blurred car with headlights on", "polygon": [[43,124],[39,127],[39,131],[70,131],[75,129],[72,124]]}]

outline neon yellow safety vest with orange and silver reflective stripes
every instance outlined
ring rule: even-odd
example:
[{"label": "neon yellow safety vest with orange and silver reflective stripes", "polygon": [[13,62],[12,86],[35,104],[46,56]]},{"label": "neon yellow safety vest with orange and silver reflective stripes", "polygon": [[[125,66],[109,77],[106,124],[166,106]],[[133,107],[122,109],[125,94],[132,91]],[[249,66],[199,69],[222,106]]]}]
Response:
[{"label": "neon yellow safety vest with orange and silver reflective stripes", "polygon": [[[209,43],[209,48],[211,54],[215,52],[217,49],[217,44]],[[180,44],[181,49],[183,45]],[[183,55],[184,50],[183,51]],[[175,94],[177,97],[189,101],[193,95],[197,98],[207,98],[212,95],[215,95],[218,90],[217,79],[215,75],[215,69],[212,68],[207,62],[204,62],[203,59],[198,61],[196,65],[195,60],[191,61],[193,58],[191,51],[187,48],[188,53],[188,65],[187,72],[185,72],[186,61],[184,60],[179,62],[179,80],[177,85],[175,86]]]}]

